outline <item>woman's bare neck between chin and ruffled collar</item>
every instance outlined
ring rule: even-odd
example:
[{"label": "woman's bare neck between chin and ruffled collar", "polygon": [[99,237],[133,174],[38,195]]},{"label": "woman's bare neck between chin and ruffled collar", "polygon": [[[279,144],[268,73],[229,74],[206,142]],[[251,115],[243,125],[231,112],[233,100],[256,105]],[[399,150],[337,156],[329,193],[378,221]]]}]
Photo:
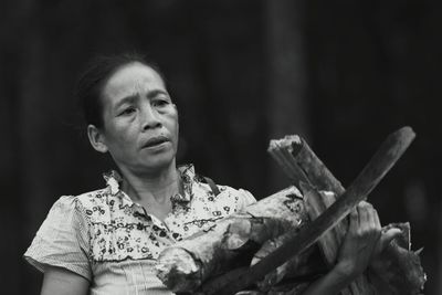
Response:
[{"label": "woman's bare neck between chin and ruffled collar", "polygon": [[123,171],[123,190],[140,202],[165,203],[179,192],[179,177],[175,162],[155,173]]}]

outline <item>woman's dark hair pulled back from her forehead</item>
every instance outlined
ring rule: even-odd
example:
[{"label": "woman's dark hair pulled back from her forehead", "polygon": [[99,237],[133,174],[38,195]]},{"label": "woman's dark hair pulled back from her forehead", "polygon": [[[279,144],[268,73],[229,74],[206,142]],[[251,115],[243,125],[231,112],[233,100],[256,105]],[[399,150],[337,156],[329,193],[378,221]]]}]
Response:
[{"label": "woman's dark hair pulled back from her forehead", "polygon": [[141,63],[156,71],[166,83],[158,66],[148,62],[145,56],[138,53],[123,53],[118,55],[96,56],[93,59],[76,85],[75,96],[84,119],[87,124],[95,125],[97,128],[104,126],[103,122],[103,87],[108,78],[122,66]]}]

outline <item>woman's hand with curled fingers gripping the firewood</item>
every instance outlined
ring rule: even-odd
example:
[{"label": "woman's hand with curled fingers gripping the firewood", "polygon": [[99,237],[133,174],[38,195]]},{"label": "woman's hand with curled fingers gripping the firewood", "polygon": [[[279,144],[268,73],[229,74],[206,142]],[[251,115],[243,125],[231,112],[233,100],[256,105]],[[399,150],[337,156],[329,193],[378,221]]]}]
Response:
[{"label": "woman's hand with curled fingers gripping the firewood", "polygon": [[380,252],[381,226],[378,213],[368,202],[360,202],[349,214],[347,234],[333,271],[352,281],[364,273],[376,252]]}]

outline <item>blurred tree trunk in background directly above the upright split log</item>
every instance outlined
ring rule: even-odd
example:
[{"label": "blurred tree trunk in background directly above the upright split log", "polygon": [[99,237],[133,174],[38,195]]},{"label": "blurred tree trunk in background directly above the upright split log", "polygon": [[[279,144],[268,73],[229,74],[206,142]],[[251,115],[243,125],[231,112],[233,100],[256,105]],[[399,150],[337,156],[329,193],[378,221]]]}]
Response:
[{"label": "blurred tree trunk in background directly above the upright split log", "polygon": [[[269,96],[266,99],[270,138],[299,134],[309,138],[304,1],[264,1],[266,49],[269,59]],[[286,183],[276,165],[270,165],[270,186]]]}]

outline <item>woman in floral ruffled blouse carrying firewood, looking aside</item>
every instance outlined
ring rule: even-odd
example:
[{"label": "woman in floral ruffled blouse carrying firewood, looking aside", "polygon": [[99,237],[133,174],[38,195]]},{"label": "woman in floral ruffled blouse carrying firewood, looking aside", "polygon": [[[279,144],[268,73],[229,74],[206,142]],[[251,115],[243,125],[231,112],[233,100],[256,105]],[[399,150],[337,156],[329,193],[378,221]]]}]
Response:
[{"label": "woman in floral ruffled blouse carrying firewood, looking aside", "polygon": [[[122,176],[107,187],[60,198],[25,259],[44,272],[42,294],[171,294],[152,274],[164,247],[254,201],[176,165],[178,112],[161,74],[139,56],[102,57],[78,83],[93,148]],[[376,211],[361,203],[336,266],[307,294],[334,294],[381,246]],[[390,234],[391,235],[391,234]]]}]

